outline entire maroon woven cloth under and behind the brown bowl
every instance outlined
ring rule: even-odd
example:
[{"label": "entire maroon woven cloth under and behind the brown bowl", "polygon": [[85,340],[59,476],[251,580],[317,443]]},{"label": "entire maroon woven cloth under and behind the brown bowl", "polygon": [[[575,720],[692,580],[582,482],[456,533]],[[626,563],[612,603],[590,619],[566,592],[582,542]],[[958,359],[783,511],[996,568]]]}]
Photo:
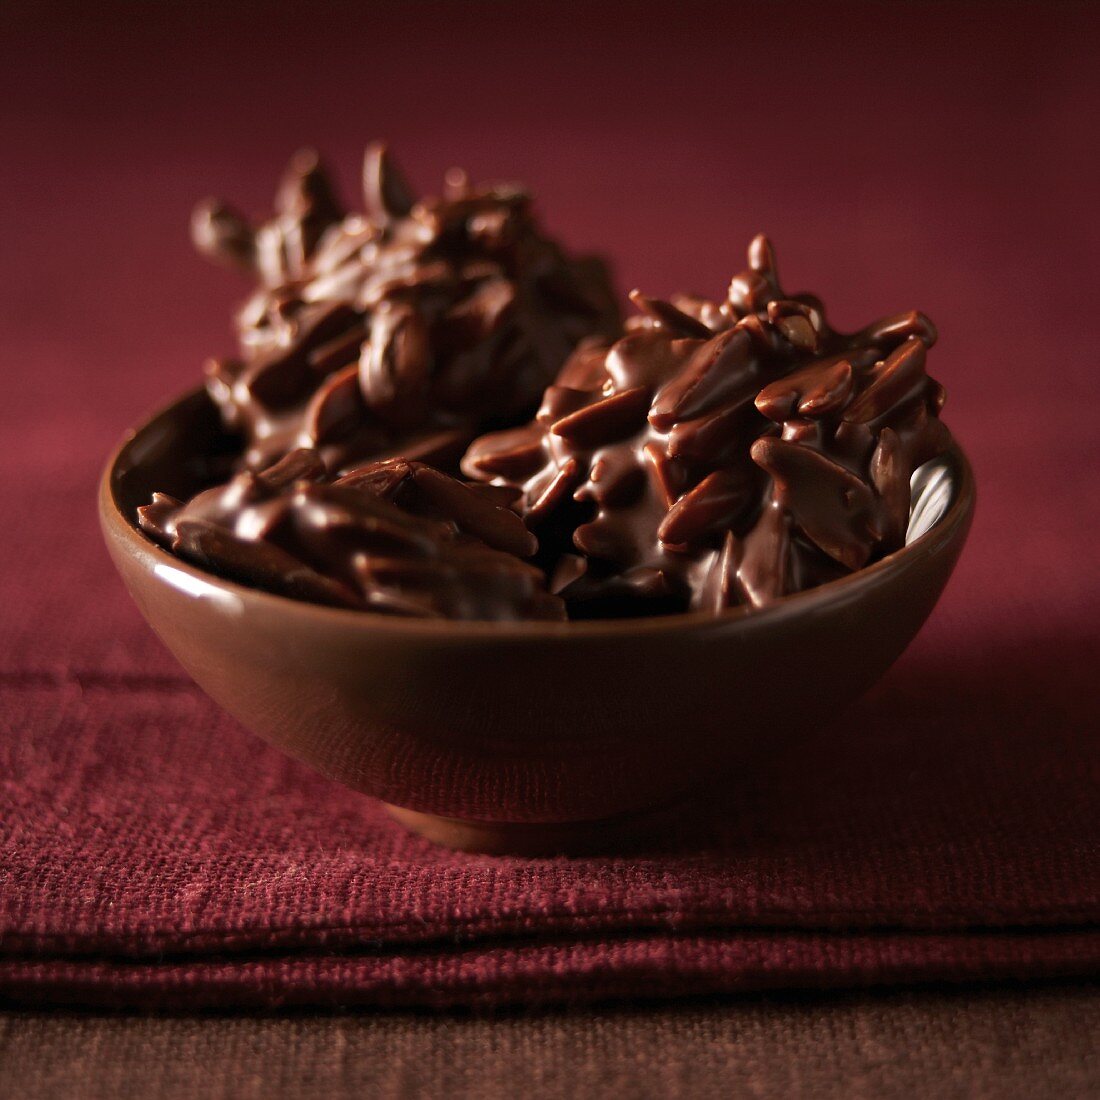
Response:
[{"label": "entire maroon woven cloth under and behind the brown bowl", "polygon": [[[689,4],[654,30],[636,8],[382,4],[350,36],[361,9],[333,8],[340,34],[256,44],[249,8],[6,6],[0,997],[493,1004],[1100,971],[1097,19],[784,6],[734,31]],[[454,161],[528,180],[624,286],[717,293],[765,229],[839,324],[941,326],[980,491],[956,580],[882,683],[732,783],[695,846],[433,848],[220,715],[112,575],[97,468],[228,346],[240,294],[190,256],[191,200],[262,208],[305,140],[350,182],[378,135],[426,183]]]}]

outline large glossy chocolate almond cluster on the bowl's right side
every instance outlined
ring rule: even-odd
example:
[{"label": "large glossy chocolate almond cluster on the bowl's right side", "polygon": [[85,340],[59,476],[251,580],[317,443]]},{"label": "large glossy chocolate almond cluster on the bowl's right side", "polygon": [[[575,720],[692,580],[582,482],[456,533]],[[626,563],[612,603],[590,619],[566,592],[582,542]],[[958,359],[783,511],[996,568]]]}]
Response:
[{"label": "large glossy chocolate almond cluster on the bowl's right side", "polygon": [[924,315],[836,332],[763,237],[721,302],[631,298],[626,336],[462,462],[521,492],[571,614],[762,606],[902,544],[910,476],[949,443]]}]

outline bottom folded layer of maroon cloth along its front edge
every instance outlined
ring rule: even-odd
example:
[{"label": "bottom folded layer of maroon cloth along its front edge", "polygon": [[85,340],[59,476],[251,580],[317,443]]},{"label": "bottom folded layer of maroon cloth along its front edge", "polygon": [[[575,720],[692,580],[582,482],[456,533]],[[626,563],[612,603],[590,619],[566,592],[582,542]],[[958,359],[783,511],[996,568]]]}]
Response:
[{"label": "bottom folded layer of maroon cloth along its front edge", "polygon": [[761,990],[1020,980],[1096,967],[1094,932],[1057,935],[681,935],[426,953],[4,963],[2,989],[28,1005],[161,1010],[510,1008]]}]

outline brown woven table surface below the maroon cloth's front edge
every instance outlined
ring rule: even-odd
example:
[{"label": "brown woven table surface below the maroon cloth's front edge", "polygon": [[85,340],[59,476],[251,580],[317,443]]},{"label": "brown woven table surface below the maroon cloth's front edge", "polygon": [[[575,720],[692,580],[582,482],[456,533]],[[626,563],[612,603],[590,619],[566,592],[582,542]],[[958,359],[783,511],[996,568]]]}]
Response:
[{"label": "brown woven table surface below the maroon cloth's front edge", "polygon": [[1071,1100],[1100,989],[697,1002],[499,1018],[0,1016],[0,1097]]}]

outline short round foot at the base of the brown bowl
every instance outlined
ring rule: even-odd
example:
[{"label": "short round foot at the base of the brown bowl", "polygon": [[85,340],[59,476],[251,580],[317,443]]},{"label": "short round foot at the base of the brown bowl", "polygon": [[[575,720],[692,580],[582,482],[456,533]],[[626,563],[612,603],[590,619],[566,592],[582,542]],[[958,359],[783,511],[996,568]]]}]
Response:
[{"label": "short round foot at the base of the brown bowl", "polygon": [[622,855],[666,847],[692,831],[691,800],[588,822],[479,822],[383,803],[405,828],[435,844],[491,856]]}]

